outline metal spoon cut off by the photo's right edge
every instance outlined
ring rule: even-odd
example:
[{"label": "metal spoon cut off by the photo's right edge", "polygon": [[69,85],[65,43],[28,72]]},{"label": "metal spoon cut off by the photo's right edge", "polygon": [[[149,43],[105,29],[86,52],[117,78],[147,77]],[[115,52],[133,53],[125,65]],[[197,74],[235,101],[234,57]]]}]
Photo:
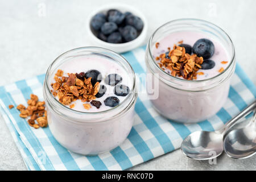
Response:
[{"label": "metal spoon cut off by the photo's right edge", "polygon": [[224,151],[230,158],[245,159],[256,154],[256,110],[250,125],[230,131],[224,139]]}]

